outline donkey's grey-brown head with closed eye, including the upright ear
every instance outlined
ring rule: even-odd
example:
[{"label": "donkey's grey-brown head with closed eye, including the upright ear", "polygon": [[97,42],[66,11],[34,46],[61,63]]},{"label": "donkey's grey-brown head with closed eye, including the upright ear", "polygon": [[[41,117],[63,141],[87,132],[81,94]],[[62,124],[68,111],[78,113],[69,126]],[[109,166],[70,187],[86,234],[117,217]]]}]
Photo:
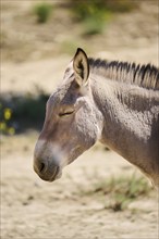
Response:
[{"label": "donkey's grey-brown head with closed eye, including the upright ear", "polygon": [[77,49],[62,85],[47,102],[44,128],[35,147],[34,169],[44,180],[59,178],[63,166],[99,138],[100,116],[89,81],[87,55]]}]

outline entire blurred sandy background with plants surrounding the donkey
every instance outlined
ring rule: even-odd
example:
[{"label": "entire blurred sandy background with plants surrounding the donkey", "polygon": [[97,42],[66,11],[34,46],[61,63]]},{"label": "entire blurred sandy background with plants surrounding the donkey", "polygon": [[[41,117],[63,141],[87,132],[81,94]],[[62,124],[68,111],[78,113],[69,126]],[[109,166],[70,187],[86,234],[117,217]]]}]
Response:
[{"label": "entire blurred sandy background with plants surrounding the donkey", "polygon": [[0,4],[2,238],[158,238],[156,193],[106,147],[97,143],[51,185],[32,168],[46,101],[77,47],[94,58],[158,66],[158,1]]}]

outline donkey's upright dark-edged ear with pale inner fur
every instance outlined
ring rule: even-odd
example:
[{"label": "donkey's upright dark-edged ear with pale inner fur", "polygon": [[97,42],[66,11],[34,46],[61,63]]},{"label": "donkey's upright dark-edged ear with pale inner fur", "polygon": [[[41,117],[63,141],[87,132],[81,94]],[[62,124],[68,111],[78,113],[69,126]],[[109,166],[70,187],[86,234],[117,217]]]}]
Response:
[{"label": "donkey's upright dark-edged ear with pale inner fur", "polygon": [[89,76],[89,64],[86,53],[77,48],[73,59],[73,70],[75,73],[75,80],[80,86],[85,86]]}]

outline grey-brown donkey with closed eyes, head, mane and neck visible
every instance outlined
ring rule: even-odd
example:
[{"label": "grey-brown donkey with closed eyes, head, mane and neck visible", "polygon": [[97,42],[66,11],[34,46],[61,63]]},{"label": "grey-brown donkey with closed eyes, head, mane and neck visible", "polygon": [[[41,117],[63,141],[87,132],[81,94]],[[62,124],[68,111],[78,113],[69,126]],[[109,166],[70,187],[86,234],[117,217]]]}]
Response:
[{"label": "grey-brown donkey with closed eyes, head, mane and neck visible", "polygon": [[53,181],[97,140],[159,186],[157,67],[91,59],[77,49],[47,102],[34,169],[41,179]]}]

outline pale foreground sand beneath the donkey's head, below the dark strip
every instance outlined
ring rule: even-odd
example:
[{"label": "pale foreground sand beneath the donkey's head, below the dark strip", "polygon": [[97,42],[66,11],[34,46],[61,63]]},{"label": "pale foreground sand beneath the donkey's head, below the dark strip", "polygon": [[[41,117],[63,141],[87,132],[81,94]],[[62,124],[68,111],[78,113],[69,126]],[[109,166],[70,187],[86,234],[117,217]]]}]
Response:
[{"label": "pale foreground sand beneath the donkey's head, below the dark strip", "polygon": [[68,166],[60,180],[48,184],[32,168],[36,137],[32,133],[2,139],[3,239],[158,238],[155,191],[121,212],[105,209],[109,196],[80,193],[93,186],[96,175],[106,179],[118,174],[131,175],[135,171],[131,164],[96,146]]}]

